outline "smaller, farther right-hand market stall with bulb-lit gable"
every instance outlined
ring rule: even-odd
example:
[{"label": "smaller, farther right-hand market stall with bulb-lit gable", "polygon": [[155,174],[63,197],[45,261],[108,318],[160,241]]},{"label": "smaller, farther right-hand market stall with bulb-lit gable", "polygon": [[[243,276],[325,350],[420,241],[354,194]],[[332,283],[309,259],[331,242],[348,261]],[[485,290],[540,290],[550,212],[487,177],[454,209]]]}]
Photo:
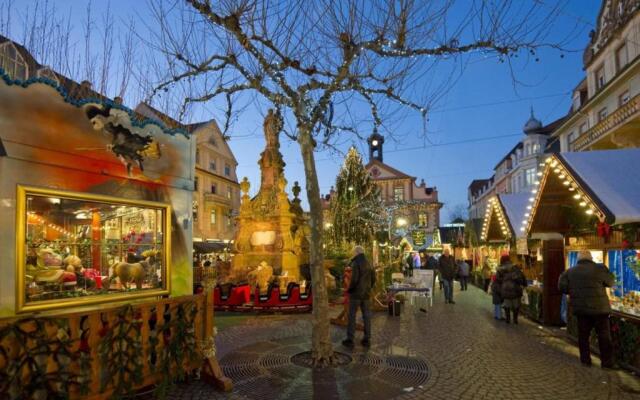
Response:
[{"label": "smaller, farther right-hand market stall with bulb-lit gable", "polygon": [[[514,263],[518,264],[527,277],[526,304],[523,313],[534,321],[542,320],[542,265],[538,260],[537,241],[527,241],[526,236],[518,228],[522,221],[530,214],[529,193],[499,194],[489,199],[489,206],[483,222],[480,238],[486,243],[497,246],[492,253],[494,257],[487,257],[486,261],[496,273],[499,258],[502,254],[510,254]],[[517,258],[517,260],[516,260]],[[476,271],[476,276],[482,278],[482,265]],[[480,287],[481,284],[480,284]]]}]

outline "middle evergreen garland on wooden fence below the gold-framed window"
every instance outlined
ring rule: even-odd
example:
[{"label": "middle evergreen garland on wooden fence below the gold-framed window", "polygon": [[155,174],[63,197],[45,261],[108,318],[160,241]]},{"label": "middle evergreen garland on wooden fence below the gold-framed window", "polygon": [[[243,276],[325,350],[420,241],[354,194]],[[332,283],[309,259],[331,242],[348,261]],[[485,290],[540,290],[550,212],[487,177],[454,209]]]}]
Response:
[{"label": "middle evergreen garland on wooden fence below the gold-framed window", "polygon": [[103,324],[99,332],[102,340],[98,346],[100,391],[104,392],[111,386],[114,399],[132,395],[134,387],[144,379],[141,315],[133,307],[125,306],[117,312],[113,326],[109,326],[109,322]]}]

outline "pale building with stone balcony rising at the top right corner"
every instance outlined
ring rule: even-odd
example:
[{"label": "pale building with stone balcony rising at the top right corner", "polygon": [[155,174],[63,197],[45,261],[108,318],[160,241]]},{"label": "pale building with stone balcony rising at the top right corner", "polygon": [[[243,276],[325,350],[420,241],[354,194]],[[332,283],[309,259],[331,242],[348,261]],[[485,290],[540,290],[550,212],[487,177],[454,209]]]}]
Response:
[{"label": "pale building with stone balcony rising at the top right corner", "polygon": [[560,150],[640,146],[640,2],[604,0],[584,52],[586,77],[554,132]]}]

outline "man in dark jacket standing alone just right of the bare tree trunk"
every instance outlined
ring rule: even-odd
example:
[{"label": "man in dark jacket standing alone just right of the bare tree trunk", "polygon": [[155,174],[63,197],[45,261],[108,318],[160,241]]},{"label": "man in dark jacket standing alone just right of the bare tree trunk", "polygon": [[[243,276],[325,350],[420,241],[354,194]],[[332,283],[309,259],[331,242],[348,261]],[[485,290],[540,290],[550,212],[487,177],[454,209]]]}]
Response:
[{"label": "man in dark jacket standing alone just right of the bare tree trunk", "polygon": [[369,298],[371,289],[376,283],[376,274],[371,264],[364,255],[361,246],[353,248],[354,257],[351,259],[351,283],[349,284],[349,324],[347,325],[347,338],[342,341],[346,347],[353,347],[353,337],[356,332],[356,313],[358,308],[362,310],[364,320],[364,338],[362,345],[371,345],[371,308]]}]

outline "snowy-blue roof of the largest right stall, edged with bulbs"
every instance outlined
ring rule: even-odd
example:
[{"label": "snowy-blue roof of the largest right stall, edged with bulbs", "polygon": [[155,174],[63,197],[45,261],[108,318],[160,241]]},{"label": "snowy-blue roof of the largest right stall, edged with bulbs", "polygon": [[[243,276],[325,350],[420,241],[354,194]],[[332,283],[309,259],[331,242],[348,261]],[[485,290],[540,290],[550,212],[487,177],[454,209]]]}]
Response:
[{"label": "snowy-blue roof of the largest right stall, edged with bulbs", "polygon": [[584,214],[611,225],[640,222],[638,171],[640,149],[554,154],[538,173],[531,215],[519,229],[563,233]]}]

